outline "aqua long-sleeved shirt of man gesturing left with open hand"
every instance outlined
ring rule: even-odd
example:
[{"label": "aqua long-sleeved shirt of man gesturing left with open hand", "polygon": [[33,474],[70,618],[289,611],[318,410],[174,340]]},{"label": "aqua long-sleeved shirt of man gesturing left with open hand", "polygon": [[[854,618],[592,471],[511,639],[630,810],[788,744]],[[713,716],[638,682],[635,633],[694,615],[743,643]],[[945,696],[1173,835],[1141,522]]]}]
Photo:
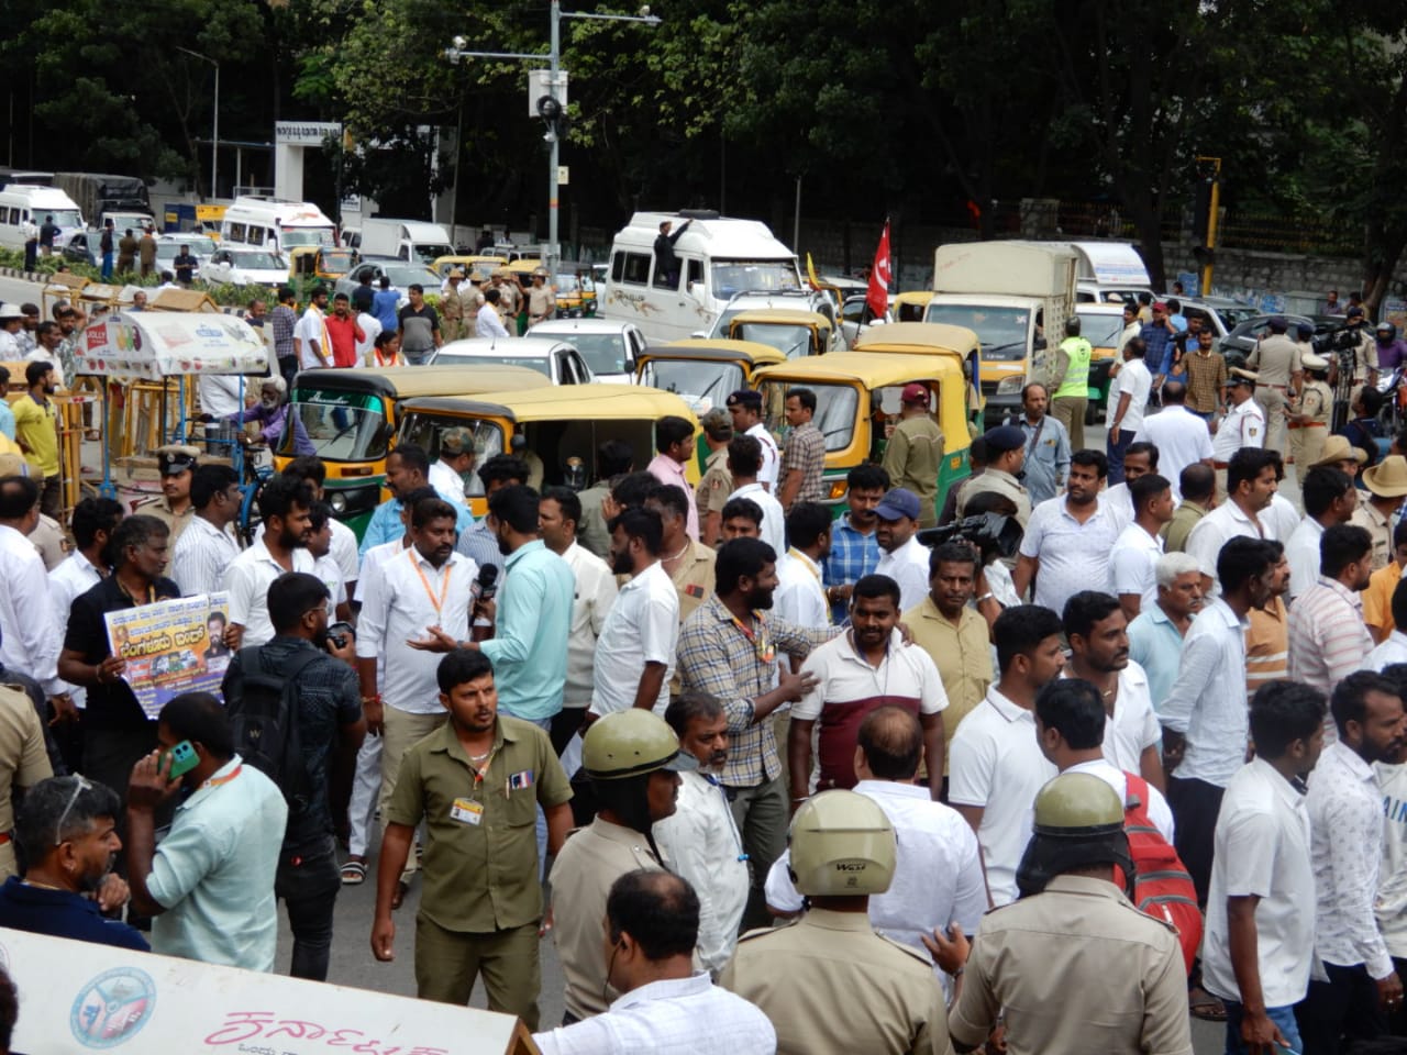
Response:
[{"label": "aqua long-sleeved shirt of man gesturing left with open hand", "polygon": [[494,636],[478,647],[494,661],[502,712],[540,722],[561,710],[577,578],[540,539],[514,551],[507,568]]}]

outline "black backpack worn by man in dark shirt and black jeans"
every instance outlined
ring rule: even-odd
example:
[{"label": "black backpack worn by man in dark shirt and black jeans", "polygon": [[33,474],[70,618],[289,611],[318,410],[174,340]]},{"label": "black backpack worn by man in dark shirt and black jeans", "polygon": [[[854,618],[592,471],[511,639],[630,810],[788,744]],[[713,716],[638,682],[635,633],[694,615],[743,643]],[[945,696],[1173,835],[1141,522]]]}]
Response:
[{"label": "black backpack worn by man in dark shirt and black jeans", "polygon": [[308,767],[298,737],[298,675],[322,653],[300,650],[277,674],[265,668],[263,648],[239,650],[239,677],[225,681],[225,713],[239,757],[279,785],[288,816],[310,800]]}]

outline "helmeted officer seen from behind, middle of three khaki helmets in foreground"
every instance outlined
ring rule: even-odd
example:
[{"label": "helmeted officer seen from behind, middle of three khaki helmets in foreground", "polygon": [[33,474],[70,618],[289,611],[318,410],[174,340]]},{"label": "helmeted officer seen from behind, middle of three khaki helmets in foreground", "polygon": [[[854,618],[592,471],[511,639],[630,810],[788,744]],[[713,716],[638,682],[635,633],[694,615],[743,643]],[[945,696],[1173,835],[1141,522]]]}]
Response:
[{"label": "helmeted officer seen from behind, middle of three khaki helmets in foreground", "polygon": [[933,965],[870,927],[870,895],[889,889],[898,850],[879,805],[820,792],[796,810],[788,838],[791,878],[810,907],[744,934],[719,985],[771,1018],[778,1055],[953,1051]]}]

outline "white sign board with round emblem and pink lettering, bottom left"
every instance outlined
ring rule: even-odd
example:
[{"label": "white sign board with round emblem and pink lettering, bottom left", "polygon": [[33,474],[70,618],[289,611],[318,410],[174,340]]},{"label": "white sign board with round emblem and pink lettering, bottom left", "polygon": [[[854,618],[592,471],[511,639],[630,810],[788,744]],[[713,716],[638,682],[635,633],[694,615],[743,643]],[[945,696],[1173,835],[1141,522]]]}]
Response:
[{"label": "white sign board with round emblem and pink lettering, bottom left", "polygon": [[13,1055],[535,1055],[471,1007],[0,928],[20,995]]}]

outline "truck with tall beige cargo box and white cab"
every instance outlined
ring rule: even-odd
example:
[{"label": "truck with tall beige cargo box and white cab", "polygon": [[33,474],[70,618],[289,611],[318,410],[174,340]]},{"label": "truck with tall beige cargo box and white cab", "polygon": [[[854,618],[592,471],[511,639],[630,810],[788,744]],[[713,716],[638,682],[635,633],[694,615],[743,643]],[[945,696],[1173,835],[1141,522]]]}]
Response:
[{"label": "truck with tall beige cargo box and white cab", "polygon": [[[1065,319],[1075,314],[1078,266],[1078,255],[1062,242],[953,242],[937,248],[934,294],[924,318],[978,335],[988,421],[1000,421],[1021,405],[1021,388],[1041,376],[1047,349],[1064,339]],[[1019,373],[1012,371],[1014,363],[1021,363]]]}]

